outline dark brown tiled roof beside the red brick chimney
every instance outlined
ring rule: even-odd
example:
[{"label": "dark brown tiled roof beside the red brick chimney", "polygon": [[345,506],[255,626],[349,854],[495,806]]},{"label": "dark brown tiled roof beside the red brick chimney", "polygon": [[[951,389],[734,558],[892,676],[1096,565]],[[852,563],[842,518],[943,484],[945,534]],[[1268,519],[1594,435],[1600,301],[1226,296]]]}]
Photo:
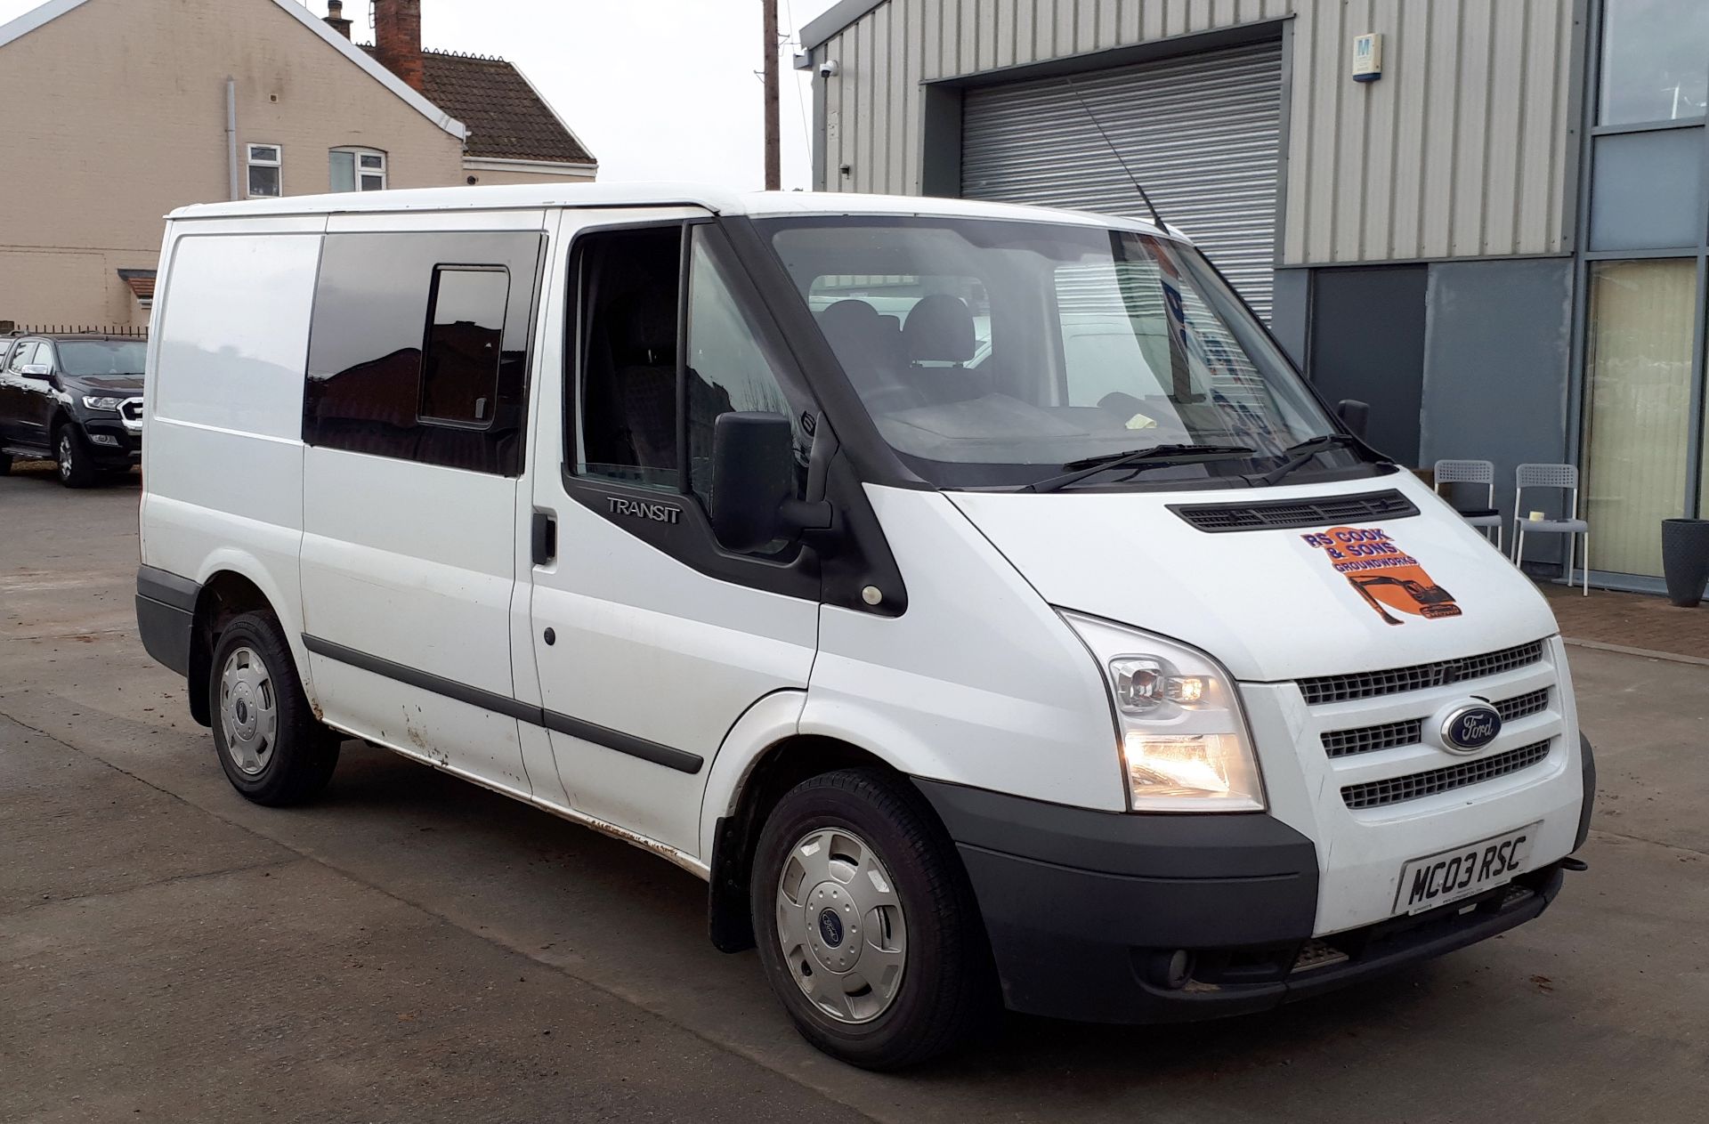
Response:
[{"label": "dark brown tiled roof beside the red brick chimney", "polygon": [[[361,44],[369,55],[374,48]],[[422,51],[422,96],[468,126],[467,152],[489,161],[593,164],[521,72],[502,58]]]}]

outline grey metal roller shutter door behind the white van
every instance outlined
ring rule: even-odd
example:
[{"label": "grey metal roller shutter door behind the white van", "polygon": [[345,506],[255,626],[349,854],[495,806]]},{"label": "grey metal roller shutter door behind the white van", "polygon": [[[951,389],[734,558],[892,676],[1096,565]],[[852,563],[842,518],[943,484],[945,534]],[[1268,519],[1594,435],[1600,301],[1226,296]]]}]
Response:
[{"label": "grey metal roller shutter door behind the white van", "polygon": [[1082,73],[1072,87],[1056,77],[969,89],[962,195],[1148,219],[1099,125],[1164,219],[1268,319],[1282,44]]}]

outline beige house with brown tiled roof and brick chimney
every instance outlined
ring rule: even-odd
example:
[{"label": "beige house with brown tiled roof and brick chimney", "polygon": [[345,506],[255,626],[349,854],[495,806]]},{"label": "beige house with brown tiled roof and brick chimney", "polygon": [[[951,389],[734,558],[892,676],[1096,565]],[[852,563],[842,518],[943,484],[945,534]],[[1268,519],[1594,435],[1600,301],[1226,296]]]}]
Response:
[{"label": "beige house with brown tiled roof and brick chimney", "polygon": [[145,325],[185,203],[593,179],[528,79],[424,51],[420,0],[50,0],[0,26],[0,321]]}]

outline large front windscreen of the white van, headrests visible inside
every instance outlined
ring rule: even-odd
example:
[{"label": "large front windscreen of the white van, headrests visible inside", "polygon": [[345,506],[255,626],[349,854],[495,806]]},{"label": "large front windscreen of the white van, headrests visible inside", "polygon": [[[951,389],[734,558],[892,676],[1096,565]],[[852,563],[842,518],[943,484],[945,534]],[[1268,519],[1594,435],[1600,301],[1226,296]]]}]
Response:
[{"label": "large front windscreen of the white van, headrests visible inside", "polygon": [[[1335,432],[1183,243],[988,219],[761,225],[878,432],[938,487],[1025,487],[1155,446],[1171,449],[1143,475],[1085,483],[1244,485]],[[1176,446],[1220,453],[1178,461]],[[1360,463],[1331,446],[1292,478]]]}]

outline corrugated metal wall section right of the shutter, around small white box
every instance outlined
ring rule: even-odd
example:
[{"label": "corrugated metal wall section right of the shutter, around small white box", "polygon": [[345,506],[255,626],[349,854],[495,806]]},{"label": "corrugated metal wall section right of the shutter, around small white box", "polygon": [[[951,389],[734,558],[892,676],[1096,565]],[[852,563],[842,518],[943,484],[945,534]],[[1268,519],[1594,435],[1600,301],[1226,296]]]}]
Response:
[{"label": "corrugated metal wall section right of the shutter, around small white box", "polygon": [[[1367,31],[1383,79],[1362,85]],[[1572,104],[1572,0],[1302,2],[1282,260],[1564,249]]]}]

